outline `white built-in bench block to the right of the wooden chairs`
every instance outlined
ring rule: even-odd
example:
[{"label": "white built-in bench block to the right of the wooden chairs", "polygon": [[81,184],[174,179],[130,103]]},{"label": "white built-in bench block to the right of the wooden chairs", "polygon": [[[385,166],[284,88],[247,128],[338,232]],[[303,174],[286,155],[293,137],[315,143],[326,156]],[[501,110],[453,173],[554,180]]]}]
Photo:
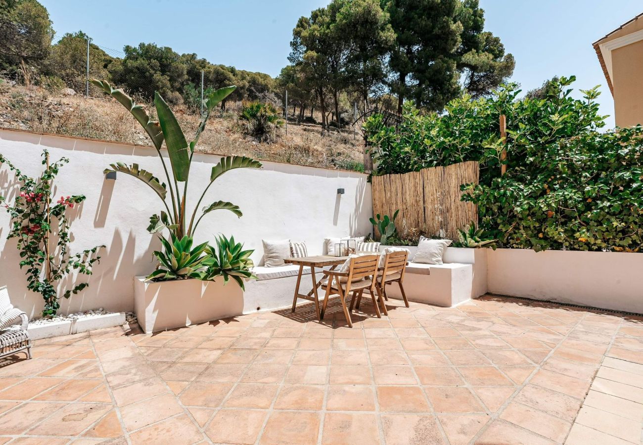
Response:
[{"label": "white built-in bench block to the right of the wooden chairs", "polygon": [[[417,247],[405,248],[412,260]],[[485,250],[447,248],[443,260],[444,264],[409,262],[403,283],[408,300],[451,307],[487,292]],[[402,298],[397,284],[386,286],[386,294]]]}]

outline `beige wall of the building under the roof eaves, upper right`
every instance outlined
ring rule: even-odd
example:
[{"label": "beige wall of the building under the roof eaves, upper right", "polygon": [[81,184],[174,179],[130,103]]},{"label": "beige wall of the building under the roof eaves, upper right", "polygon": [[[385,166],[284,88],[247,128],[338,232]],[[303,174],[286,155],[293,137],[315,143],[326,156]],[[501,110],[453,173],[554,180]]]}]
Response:
[{"label": "beige wall of the building under the roof eaves, upper right", "polygon": [[643,124],[643,41],[611,51],[616,125]]}]

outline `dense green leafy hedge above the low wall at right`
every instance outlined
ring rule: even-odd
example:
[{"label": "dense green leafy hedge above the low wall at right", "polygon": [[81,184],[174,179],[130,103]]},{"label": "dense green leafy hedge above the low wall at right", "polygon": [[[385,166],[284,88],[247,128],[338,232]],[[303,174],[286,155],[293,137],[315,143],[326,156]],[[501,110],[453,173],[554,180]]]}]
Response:
[{"label": "dense green leafy hedge above the low wall at right", "polygon": [[[397,129],[374,116],[366,129],[377,173],[480,161],[480,227],[503,247],[640,251],[643,245],[643,128],[599,132],[596,88],[572,98],[575,78],[548,95],[516,100],[515,85],[490,98],[451,102],[444,116],[407,106]],[[501,177],[500,114],[507,116],[507,174]]]}]

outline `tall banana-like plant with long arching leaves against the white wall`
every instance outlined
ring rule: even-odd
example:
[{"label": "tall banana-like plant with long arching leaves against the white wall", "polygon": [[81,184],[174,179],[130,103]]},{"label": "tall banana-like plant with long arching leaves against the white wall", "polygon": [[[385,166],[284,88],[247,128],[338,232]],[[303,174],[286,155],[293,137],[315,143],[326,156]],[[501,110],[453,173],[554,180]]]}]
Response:
[{"label": "tall banana-like plant with long arching leaves against the white wall", "polygon": [[[174,116],[174,113],[172,113],[172,110],[170,110],[170,107],[168,107],[165,100],[163,100],[159,93],[155,93],[154,95],[154,106],[156,107],[156,113],[158,114],[159,119],[157,122],[150,118],[142,105],[136,104],[130,96],[123,92],[122,89],[115,89],[105,80],[90,79],[89,81],[95,86],[102,88],[105,93],[118,100],[118,102],[132,113],[132,116],[136,118],[143,129],[145,129],[148,136],[150,136],[150,139],[152,140],[152,143],[154,143],[154,147],[158,152],[159,158],[161,159],[161,165],[163,165],[163,170],[165,172],[164,176],[167,184],[158,179],[158,177],[154,176],[151,172],[139,168],[138,164],[125,165],[119,162],[112,164],[110,165],[110,168],[105,169],[105,173],[121,172],[137,177],[147,186],[152,188],[161,201],[163,201],[165,210],[161,211],[159,215],[155,214],[150,217],[150,226],[148,227],[150,233],[156,233],[163,230],[163,228],[168,228],[168,230],[170,230],[177,239],[183,239],[184,236],[192,237],[204,215],[212,212],[213,210],[230,210],[230,212],[241,217],[242,213],[239,206],[226,201],[216,201],[215,203],[208,204],[201,208],[201,215],[198,218],[197,215],[208,188],[210,188],[212,183],[219,176],[225,172],[233,170],[234,168],[261,167],[261,163],[259,161],[255,161],[255,159],[246,158],[244,156],[227,156],[222,158],[217,165],[212,167],[210,182],[205,187],[205,190],[203,190],[201,197],[199,197],[194,211],[188,215],[185,208],[186,196],[188,194],[190,166],[192,165],[194,149],[199,142],[199,136],[201,136],[201,133],[205,129],[210,113],[212,113],[212,109],[226,98],[226,96],[230,95],[230,93],[235,90],[235,86],[219,88],[210,93],[210,95],[208,95],[208,97],[203,101],[203,114],[201,114],[199,127],[197,128],[192,141],[188,143],[183,131],[181,131],[178,121],[176,120],[176,116]],[[167,148],[170,159],[171,174],[170,170],[168,170],[165,159],[161,156],[163,141],[165,141],[165,147]],[[179,186],[179,183],[181,186]],[[167,202],[168,192],[170,194],[169,204]]]}]

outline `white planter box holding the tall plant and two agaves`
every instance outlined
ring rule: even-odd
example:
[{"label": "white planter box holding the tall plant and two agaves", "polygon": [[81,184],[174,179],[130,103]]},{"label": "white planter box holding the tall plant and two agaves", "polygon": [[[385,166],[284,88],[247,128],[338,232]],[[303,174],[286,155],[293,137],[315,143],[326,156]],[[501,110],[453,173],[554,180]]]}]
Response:
[{"label": "white planter box holding the tall plant and two agaves", "polygon": [[134,278],[134,312],[145,333],[163,331],[243,313],[243,291],[237,282],[174,280],[149,282]]}]

